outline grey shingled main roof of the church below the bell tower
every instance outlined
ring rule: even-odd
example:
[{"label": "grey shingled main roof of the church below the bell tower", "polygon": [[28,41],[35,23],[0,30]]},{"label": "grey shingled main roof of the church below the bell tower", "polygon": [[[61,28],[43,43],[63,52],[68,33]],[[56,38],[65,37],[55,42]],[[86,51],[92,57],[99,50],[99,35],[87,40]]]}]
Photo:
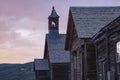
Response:
[{"label": "grey shingled main roof of the church below the bell tower", "polygon": [[47,34],[48,52],[51,63],[69,63],[70,53],[64,50],[65,34],[58,34],[56,39]]}]

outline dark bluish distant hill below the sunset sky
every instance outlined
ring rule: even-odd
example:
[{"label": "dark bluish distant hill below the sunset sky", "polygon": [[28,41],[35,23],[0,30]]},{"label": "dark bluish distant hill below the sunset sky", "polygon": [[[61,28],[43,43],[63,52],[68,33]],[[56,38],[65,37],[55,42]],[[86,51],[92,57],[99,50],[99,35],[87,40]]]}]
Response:
[{"label": "dark bluish distant hill below the sunset sky", "polygon": [[0,64],[0,80],[35,80],[33,62],[26,64]]}]

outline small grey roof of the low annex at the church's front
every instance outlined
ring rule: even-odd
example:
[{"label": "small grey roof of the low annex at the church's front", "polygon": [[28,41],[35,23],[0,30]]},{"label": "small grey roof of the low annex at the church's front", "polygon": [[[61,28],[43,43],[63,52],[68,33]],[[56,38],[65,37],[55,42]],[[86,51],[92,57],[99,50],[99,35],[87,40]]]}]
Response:
[{"label": "small grey roof of the low annex at the church's front", "polygon": [[49,70],[48,59],[35,59],[34,60],[35,71]]}]

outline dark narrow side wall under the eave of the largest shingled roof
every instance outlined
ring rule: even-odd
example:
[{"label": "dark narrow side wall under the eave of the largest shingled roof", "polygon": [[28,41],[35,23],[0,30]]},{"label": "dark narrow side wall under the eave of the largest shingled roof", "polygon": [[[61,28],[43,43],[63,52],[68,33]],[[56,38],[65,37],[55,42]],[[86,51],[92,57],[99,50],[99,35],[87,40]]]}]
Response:
[{"label": "dark narrow side wall under the eave of the largest shingled roof", "polygon": [[85,44],[86,60],[86,79],[85,80],[96,80],[96,54],[95,46],[92,42],[86,42]]}]

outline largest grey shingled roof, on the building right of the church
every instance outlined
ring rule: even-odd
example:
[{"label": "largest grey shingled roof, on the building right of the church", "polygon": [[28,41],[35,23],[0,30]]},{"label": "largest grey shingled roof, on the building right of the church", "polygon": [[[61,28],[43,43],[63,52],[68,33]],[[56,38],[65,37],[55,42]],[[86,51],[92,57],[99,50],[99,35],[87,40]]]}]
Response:
[{"label": "largest grey shingled roof, on the building right of the church", "polygon": [[101,28],[120,16],[120,7],[71,7],[70,12],[78,37],[92,38]]}]

